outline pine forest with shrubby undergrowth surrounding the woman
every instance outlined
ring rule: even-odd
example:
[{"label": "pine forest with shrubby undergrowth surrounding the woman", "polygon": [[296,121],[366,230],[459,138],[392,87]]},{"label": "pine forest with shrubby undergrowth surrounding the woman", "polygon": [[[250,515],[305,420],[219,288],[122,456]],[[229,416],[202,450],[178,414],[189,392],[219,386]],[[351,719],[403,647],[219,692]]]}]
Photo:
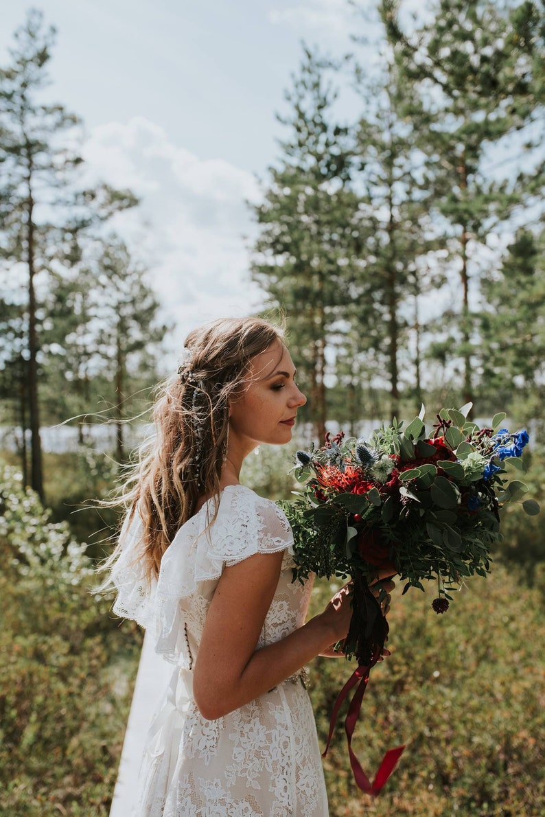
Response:
[{"label": "pine forest with shrubby undergrowth surrounding the woman", "polygon": [[[355,4],[356,8],[358,4]],[[248,205],[248,281],[284,322],[309,396],[286,451],[248,485],[289,498],[293,453],[426,408],[472,404],[526,428],[529,496],[545,494],[542,2],[433,0],[409,24],[380,0],[380,60],[302,46],[284,137]],[[362,7],[362,31],[364,16]],[[142,633],[96,596],[119,520],[107,500],[149,422],[171,327],[154,270],[114,225],[132,190],[84,183],[83,122],[56,101],[41,11],[0,67],[0,815],[107,815]],[[343,88],[360,100],[340,118]],[[69,450],[44,450],[51,426]],[[391,659],[373,670],[355,746],[408,748],[380,798],[351,779],[340,727],[325,759],[332,817],[545,810],[545,522],[516,503],[486,579],[448,614],[395,593]],[[333,583],[334,586],[334,583]],[[330,595],[321,581],[312,605]],[[431,590],[433,592],[433,590]],[[426,596],[426,597],[425,597]],[[316,659],[319,739],[351,667]]]}]

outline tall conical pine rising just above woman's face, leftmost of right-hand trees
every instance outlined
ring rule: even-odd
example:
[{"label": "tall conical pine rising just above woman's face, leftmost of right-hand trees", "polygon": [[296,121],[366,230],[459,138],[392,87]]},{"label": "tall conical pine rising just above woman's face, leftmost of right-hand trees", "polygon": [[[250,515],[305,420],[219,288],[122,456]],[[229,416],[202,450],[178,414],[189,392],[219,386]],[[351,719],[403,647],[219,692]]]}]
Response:
[{"label": "tall conical pine rising just above woman's face, leftmost of right-hand trees", "polygon": [[290,136],[280,142],[282,157],[255,208],[261,232],[252,263],[269,305],[287,315],[319,440],[327,419],[326,348],[354,295],[359,240],[358,197],[349,185],[352,151],[347,128],[333,121],[337,94],[326,79],[328,67],[306,49],[286,93],[290,114],[280,121]]}]

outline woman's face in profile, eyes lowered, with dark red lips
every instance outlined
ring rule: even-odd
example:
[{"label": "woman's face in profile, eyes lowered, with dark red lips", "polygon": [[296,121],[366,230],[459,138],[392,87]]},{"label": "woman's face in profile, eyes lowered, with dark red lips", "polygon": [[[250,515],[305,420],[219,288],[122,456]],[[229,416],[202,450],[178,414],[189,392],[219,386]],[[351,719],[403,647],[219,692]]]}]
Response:
[{"label": "woman's face in profile, eyes lowered, with dark red lips", "polygon": [[306,403],[294,378],[292,358],[279,341],[252,358],[249,386],[230,405],[230,449],[236,445],[245,456],[260,443],[292,439],[297,408]]}]

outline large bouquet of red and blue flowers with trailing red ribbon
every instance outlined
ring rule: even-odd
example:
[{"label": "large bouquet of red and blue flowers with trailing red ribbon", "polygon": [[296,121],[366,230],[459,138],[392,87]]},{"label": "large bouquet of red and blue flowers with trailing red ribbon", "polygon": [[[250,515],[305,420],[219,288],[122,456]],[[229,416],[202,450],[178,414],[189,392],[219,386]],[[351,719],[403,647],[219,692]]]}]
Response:
[{"label": "large bouquet of red and blue flowers with trailing red ribbon", "polygon": [[[406,428],[394,421],[369,441],[345,440],[340,432],[318,449],[297,452],[294,474],[302,490],[283,503],[293,528],[294,578],[334,575],[350,577],[353,585],[351,626],[337,647],[347,659],[357,659],[359,670],[337,699],[330,736],[342,698],[362,681],[357,712],[349,710],[353,729],[369,669],[386,641],[388,624],[369,589],[377,571],[399,574],[403,592],[436,581],[432,606],[444,613],[453,588],[489,572],[490,546],[500,536],[499,511],[528,490],[512,478],[525,470],[520,455],[528,433],[499,427],[505,413],[480,428],[467,420],[470,408],[441,408],[429,435],[422,407]],[[533,499],[522,507],[530,515],[539,512]],[[349,748],[350,742],[351,734]],[[396,760],[402,748],[392,751]],[[351,760],[360,788],[377,793],[377,781],[369,784],[352,754]]]}]

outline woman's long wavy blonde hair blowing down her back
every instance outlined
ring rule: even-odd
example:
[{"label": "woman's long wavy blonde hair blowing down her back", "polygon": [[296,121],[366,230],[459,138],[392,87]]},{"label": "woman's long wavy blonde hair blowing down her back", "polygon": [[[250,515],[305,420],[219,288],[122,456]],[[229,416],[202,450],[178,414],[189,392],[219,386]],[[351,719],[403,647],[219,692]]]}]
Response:
[{"label": "woman's long wavy blonde hair blowing down her back", "polygon": [[[229,437],[229,403],[248,379],[250,361],[283,341],[281,329],[260,318],[227,318],[194,329],[178,371],[158,386],[154,435],[138,450],[120,502],[129,522],[138,514],[148,579],[164,551],[194,515],[200,497],[217,497]],[[123,542],[108,560],[111,564]]]}]

